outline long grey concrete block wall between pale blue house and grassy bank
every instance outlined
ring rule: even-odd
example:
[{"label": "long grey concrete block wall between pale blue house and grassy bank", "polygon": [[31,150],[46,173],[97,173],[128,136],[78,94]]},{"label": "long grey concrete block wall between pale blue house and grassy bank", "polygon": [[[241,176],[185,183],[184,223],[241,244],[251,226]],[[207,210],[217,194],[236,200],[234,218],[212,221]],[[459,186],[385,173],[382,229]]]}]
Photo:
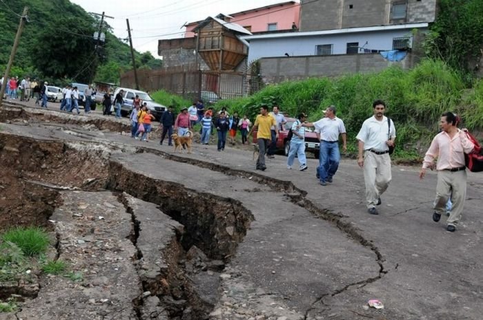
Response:
[{"label": "long grey concrete block wall between pale blue house and grassy bank", "polygon": [[413,67],[413,56],[400,62],[386,61],[380,54],[341,54],[334,56],[294,56],[261,58],[264,83],[280,83],[322,76],[380,72],[391,65],[404,69]]}]

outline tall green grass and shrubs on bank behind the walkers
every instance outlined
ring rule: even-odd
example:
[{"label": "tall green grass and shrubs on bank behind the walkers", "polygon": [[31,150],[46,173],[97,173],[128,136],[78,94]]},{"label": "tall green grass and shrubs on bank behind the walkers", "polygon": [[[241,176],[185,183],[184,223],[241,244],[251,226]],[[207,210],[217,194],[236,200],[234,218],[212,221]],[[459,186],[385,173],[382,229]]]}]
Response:
[{"label": "tall green grass and shrubs on bank behind the walkers", "polygon": [[335,105],[355,151],[355,136],[362,122],[373,114],[373,100],[380,98],[387,104],[386,115],[396,125],[397,156],[417,158],[437,133],[444,111],[460,114],[463,125],[471,130],[483,129],[483,81],[476,83],[471,93],[463,83],[460,73],[446,63],[426,60],[413,70],[390,67],[375,74],[270,85],[253,96],[221,100],[217,109],[227,107],[254,119],[261,105],[279,105],[288,116],[303,111],[309,120],[318,120],[328,105]]}]

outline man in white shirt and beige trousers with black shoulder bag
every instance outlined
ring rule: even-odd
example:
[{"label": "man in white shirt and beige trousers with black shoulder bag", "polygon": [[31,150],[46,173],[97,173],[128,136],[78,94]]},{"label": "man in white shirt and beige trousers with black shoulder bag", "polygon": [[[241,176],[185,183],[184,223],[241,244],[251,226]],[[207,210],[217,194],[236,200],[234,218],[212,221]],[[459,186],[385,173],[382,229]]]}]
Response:
[{"label": "man in white shirt and beige trousers with black shoulder bag", "polygon": [[364,121],[356,137],[359,140],[357,164],[364,168],[367,211],[371,215],[379,214],[375,206],[381,204],[381,195],[392,178],[389,147],[394,146],[396,129],[393,120],[384,116],[385,111],[386,103],[375,100],[374,116]]}]

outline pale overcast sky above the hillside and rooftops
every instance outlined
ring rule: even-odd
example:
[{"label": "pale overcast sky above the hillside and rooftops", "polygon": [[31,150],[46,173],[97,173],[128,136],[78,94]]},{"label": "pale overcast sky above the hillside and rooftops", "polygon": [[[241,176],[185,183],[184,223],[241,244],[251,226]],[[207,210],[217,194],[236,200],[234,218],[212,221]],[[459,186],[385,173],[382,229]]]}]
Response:
[{"label": "pale overcast sky above the hillside and rooftops", "polygon": [[121,39],[128,37],[126,19],[129,19],[132,45],[139,52],[150,51],[157,55],[159,39],[181,38],[186,22],[203,20],[219,13],[230,14],[284,0],[70,0],[87,12],[101,14],[115,19],[106,19]]}]

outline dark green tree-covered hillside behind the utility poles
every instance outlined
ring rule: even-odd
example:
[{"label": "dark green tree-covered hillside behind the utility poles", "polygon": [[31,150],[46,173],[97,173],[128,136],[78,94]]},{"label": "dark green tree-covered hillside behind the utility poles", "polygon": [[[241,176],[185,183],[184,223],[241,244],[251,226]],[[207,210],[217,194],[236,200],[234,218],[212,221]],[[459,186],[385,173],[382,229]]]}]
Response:
[{"label": "dark green tree-covered hillside behind the utility poles", "polygon": [[[93,34],[99,17],[88,14],[68,0],[0,1],[0,72],[12,49],[19,14],[28,6],[11,76],[35,76],[53,83],[106,81],[119,83],[119,74],[132,68],[129,46],[112,34],[108,25],[106,43],[95,47]],[[135,52],[139,67],[159,67],[161,61],[149,52]]]}]

